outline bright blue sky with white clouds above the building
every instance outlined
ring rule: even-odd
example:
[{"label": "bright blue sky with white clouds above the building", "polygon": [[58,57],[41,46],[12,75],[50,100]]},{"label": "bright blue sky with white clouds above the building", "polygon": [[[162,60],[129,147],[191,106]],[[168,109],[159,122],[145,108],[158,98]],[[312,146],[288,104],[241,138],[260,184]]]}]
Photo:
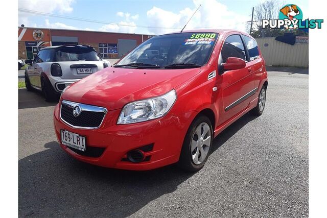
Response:
[{"label": "bright blue sky with white clouds above the building", "polygon": [[[18,9],[65,17],[96,20],[88,22],[18,10],[18,26],[122,32],[159,35],[181,30],[197,7],[201,7],[187,29],[212,28],[246,31],[252,7],[263,0],[18,0]],[[278,0],[276,0],[278,1]],[[281,1],[308,11],[308,1]]]}]

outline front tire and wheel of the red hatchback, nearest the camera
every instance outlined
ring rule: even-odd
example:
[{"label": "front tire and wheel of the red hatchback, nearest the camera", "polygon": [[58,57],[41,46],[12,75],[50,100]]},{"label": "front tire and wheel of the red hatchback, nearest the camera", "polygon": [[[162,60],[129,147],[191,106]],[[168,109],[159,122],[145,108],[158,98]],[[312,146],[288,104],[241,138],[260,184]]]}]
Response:
[{"label": "front tire and wheel of the red hatchback, nearest the camera", "polygon": [[207,116],[197,116],[184,138],[178,166],[185,171],[199,171],[209,156],[213,143],[213,127]]}]

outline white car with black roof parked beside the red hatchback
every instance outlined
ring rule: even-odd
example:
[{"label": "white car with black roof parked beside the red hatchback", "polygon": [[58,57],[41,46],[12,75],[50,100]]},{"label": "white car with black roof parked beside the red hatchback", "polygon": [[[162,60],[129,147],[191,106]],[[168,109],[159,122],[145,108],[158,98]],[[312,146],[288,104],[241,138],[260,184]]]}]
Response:
[{"label": "white car with black roof parked beside the red hatchback", "polygon": [[60,45],[41,49],[25,70],[28,91],[42,91],[46,101],[57,99],[68,85],[110,65],[89,45]]}]

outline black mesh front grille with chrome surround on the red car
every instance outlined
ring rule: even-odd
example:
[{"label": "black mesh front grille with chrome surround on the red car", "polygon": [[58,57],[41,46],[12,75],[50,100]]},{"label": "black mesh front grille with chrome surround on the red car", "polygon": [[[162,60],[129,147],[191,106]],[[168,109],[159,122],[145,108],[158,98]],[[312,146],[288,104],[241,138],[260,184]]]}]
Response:
[{"label": "black mesh front grille with chrome surround on the red car", "polygon": [[[74,116],[73,111],[77,106],[80,107],[81,113],[78,116]],[[100,127],[105,114],[105,108],[68,101],[63,101],[61,104],[61,119],[65,123],[77,128],[98,128]]]}]

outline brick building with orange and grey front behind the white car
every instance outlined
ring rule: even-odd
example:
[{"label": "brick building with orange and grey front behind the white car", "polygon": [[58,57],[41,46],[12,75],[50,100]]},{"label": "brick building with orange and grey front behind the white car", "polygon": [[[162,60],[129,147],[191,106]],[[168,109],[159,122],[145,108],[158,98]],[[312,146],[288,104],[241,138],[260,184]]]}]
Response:
[{"label": "brick building with orange and grey front behind the white car", "polygon": [[46,46],[87,44],[103,58],[120,58],[151,35],[18,27],[18,59],[33,59]]}]

